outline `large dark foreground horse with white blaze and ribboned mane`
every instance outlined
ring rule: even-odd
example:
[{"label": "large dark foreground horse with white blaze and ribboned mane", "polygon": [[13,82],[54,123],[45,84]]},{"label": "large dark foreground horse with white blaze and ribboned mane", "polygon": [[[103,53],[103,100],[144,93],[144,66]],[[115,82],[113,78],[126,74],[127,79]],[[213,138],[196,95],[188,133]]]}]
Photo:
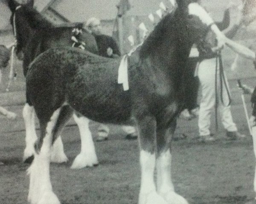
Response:
[{"label": "large dark foreground horse with white blaze and ribboned mane", "polygon": [[139,204],[187,204],[172,184],[171,141],[184,103],[183,75],[189,51],[208,31],[214,31],[221,42],[221,32],[204,8],[177,0],[176,10],[126,56],[127,91],[117,83],[120,59],[70,47],[50,48],[36,57],[26,75],[28,105],[35,109],[41,131],[28,170],[29,201],[60,203],[50,182],[50,151],[76,111],[88,120],[113,124],[126,124],[134,118],[140,146]]}]

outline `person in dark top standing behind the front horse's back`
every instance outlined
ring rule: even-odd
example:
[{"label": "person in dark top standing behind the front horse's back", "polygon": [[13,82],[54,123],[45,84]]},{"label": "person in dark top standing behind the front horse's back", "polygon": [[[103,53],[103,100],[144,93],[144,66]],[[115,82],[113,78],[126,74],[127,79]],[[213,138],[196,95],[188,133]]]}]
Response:
[{"label": "person in dark top standing behind the front horse's back", "polygon": [[[119,47],[113,37],[102,34],[100,20],[96,17],[91,17],[87,20],[87,28],[91,31],[96,39],[99,48],[99,55],[109,58],[117,58],[121,56]],[[133,126],[122,126],[126,133],[126,139],[137,139],[137,130]],[[107,125],[101,124],[98,128],[96,141],[104,141],[108,139],[109,128]]]}]

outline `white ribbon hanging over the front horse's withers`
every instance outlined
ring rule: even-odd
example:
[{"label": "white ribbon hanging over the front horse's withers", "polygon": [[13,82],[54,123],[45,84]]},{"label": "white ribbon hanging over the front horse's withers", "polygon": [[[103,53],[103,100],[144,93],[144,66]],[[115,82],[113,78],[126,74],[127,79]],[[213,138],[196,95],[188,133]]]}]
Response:
[{"label": "white ribbon hanging over the front horse's withers", "polygon": [[118,69],[118,79],[117,83],[123,85],[124,91],[129,90],[129,83],[128,83],[128,56],[131,56],[131,54],[137,50],[138,47],[140,47],[142,43],[137,45],[136,47],[132,48],[131,51],[128,54],[125,54],[120,62],[119,69]]}]

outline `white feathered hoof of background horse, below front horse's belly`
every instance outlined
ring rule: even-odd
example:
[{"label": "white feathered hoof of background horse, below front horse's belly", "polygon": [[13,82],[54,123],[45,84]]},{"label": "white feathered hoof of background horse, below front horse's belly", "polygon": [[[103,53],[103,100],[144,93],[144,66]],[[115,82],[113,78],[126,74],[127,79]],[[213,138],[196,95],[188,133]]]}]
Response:
[{"label": "white feathered hoof of background horse, below front horse's belly", "polygon": [[71,169],[81,169],[84,167],[92,167],[94,165],[99,164],[97,156],[92,154],[83,154],[80,153],[78,156],[76,156],[76,159],[73,161]]}]

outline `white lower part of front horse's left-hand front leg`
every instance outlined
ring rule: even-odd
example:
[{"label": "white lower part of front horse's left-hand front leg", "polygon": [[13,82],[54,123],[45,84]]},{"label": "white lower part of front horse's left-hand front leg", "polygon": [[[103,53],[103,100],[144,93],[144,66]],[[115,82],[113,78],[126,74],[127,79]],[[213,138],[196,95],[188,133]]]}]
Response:
[{"label": "white lower part of front horse's left-hand front leg", "polygon": [[167,204],[156,192],[154,184],[155,161],[155,154],[144,150],[140,151],[141,185],[139,204]]}]

